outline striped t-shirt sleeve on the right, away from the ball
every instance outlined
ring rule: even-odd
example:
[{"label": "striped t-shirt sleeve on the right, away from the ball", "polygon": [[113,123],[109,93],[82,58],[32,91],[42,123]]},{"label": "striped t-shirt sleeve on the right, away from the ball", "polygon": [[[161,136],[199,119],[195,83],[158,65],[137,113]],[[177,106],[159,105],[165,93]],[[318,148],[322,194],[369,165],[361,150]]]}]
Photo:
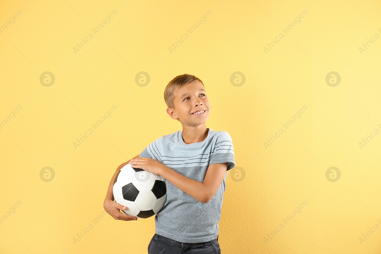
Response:
[{"label": "striped t-shirt sleeve on the right, away from the ball", "polygon": [[227,162],[227,169],[235,167],[235,158],[232,138],[224,131],[217,137],[216,145],[211,153],[210,164]]}]

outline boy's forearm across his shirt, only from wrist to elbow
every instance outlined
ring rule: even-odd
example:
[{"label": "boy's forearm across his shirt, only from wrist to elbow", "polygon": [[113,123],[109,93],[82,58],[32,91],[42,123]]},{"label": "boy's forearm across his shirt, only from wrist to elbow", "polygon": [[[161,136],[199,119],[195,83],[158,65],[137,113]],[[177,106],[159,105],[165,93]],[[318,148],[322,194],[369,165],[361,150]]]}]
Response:
[{"label": "boy's forearm across his shirt, only from wrist to elbow", "polygon": [[189,196],[192,196],[202,203],[205,203],[206,190],[203,182],[199,182],[183,176],[182,174],[177,173],[173,169],[163,164],[160,165],[160,167],[160,175],[162,177],[164,177],[183,192],[187,193]]}]

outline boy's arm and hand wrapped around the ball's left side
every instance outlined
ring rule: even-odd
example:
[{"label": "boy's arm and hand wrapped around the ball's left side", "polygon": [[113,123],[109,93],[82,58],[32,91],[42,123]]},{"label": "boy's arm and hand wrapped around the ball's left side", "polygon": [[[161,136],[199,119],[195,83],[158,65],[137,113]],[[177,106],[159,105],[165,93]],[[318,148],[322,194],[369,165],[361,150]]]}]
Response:
[{"label": "boy's arm and hand wrapped around the ball's left side", "polygon": [[[133,159],[135,158],[139,158],[139,155],[135,156]],[[122,204],[116,203],[114,201],[114,194],[112,189],[114,187],[115,177],[117,176],[120,169],[127,164],[128,164],[128,161],[119,165],[114,175],[111,177],[109,188],[107,189],[106,198],[104,199],[104,202],[103,202],[104,210],[108,214],[110,214],[110,216],[112,216],[115,220],[137,220],[138,219],[135,216],[130,216],[128,214],[124,214],[123,212],[121,212],[120,210],[125,210],[123,209],[125,206],[123,206]]]}]

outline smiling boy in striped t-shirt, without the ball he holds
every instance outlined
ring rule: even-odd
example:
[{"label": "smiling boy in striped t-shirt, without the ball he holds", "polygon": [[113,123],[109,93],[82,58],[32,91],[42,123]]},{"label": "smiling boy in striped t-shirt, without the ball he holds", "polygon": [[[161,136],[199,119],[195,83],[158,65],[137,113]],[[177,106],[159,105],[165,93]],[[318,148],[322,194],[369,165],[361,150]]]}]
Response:
[{"label": "smiling boy in striped t-shirt, without the ball he holds", "polygon": [[[112,177],[104,209],[117,220],[137,220],[120,212],[112,184],[119,170],[130,163],[166,179],[166,202],[155,216],[150,254],[219,253],[221,218],[227,171],[235,166],[232,139],[226,131],[206,128],[210,102],[202,81],[179,75],[165,88],[167,113],[182,131],[159,137],[139,155],[120,165]],[[217,239],[216,239],[217,238]]]}]

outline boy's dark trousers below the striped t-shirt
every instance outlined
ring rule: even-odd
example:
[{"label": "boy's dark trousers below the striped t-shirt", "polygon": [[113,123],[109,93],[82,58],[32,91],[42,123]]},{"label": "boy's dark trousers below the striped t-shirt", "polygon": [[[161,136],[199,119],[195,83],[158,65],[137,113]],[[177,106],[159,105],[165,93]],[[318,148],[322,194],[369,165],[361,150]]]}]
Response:
[{"label": "boy's dark trousers below the striped t-shirt", "polygon": [[148,254],[221,254],[221,249],[217,239],[203,243],[181,243],[155,233],[148,244]]}]

